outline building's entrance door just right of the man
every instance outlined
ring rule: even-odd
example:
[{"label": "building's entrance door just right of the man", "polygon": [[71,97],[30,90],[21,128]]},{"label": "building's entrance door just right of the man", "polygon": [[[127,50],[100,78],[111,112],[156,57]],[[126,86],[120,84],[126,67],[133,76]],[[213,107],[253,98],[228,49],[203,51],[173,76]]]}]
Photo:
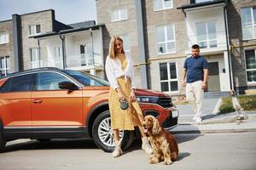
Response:
[{"label": "building's entrance door just right of the man", "polygon": [[208,77],[207,91],[208,92],[220,91],[218,62],[211,62],[211,63],[208,63],[208,65],[209,65],[209,77]]}]

